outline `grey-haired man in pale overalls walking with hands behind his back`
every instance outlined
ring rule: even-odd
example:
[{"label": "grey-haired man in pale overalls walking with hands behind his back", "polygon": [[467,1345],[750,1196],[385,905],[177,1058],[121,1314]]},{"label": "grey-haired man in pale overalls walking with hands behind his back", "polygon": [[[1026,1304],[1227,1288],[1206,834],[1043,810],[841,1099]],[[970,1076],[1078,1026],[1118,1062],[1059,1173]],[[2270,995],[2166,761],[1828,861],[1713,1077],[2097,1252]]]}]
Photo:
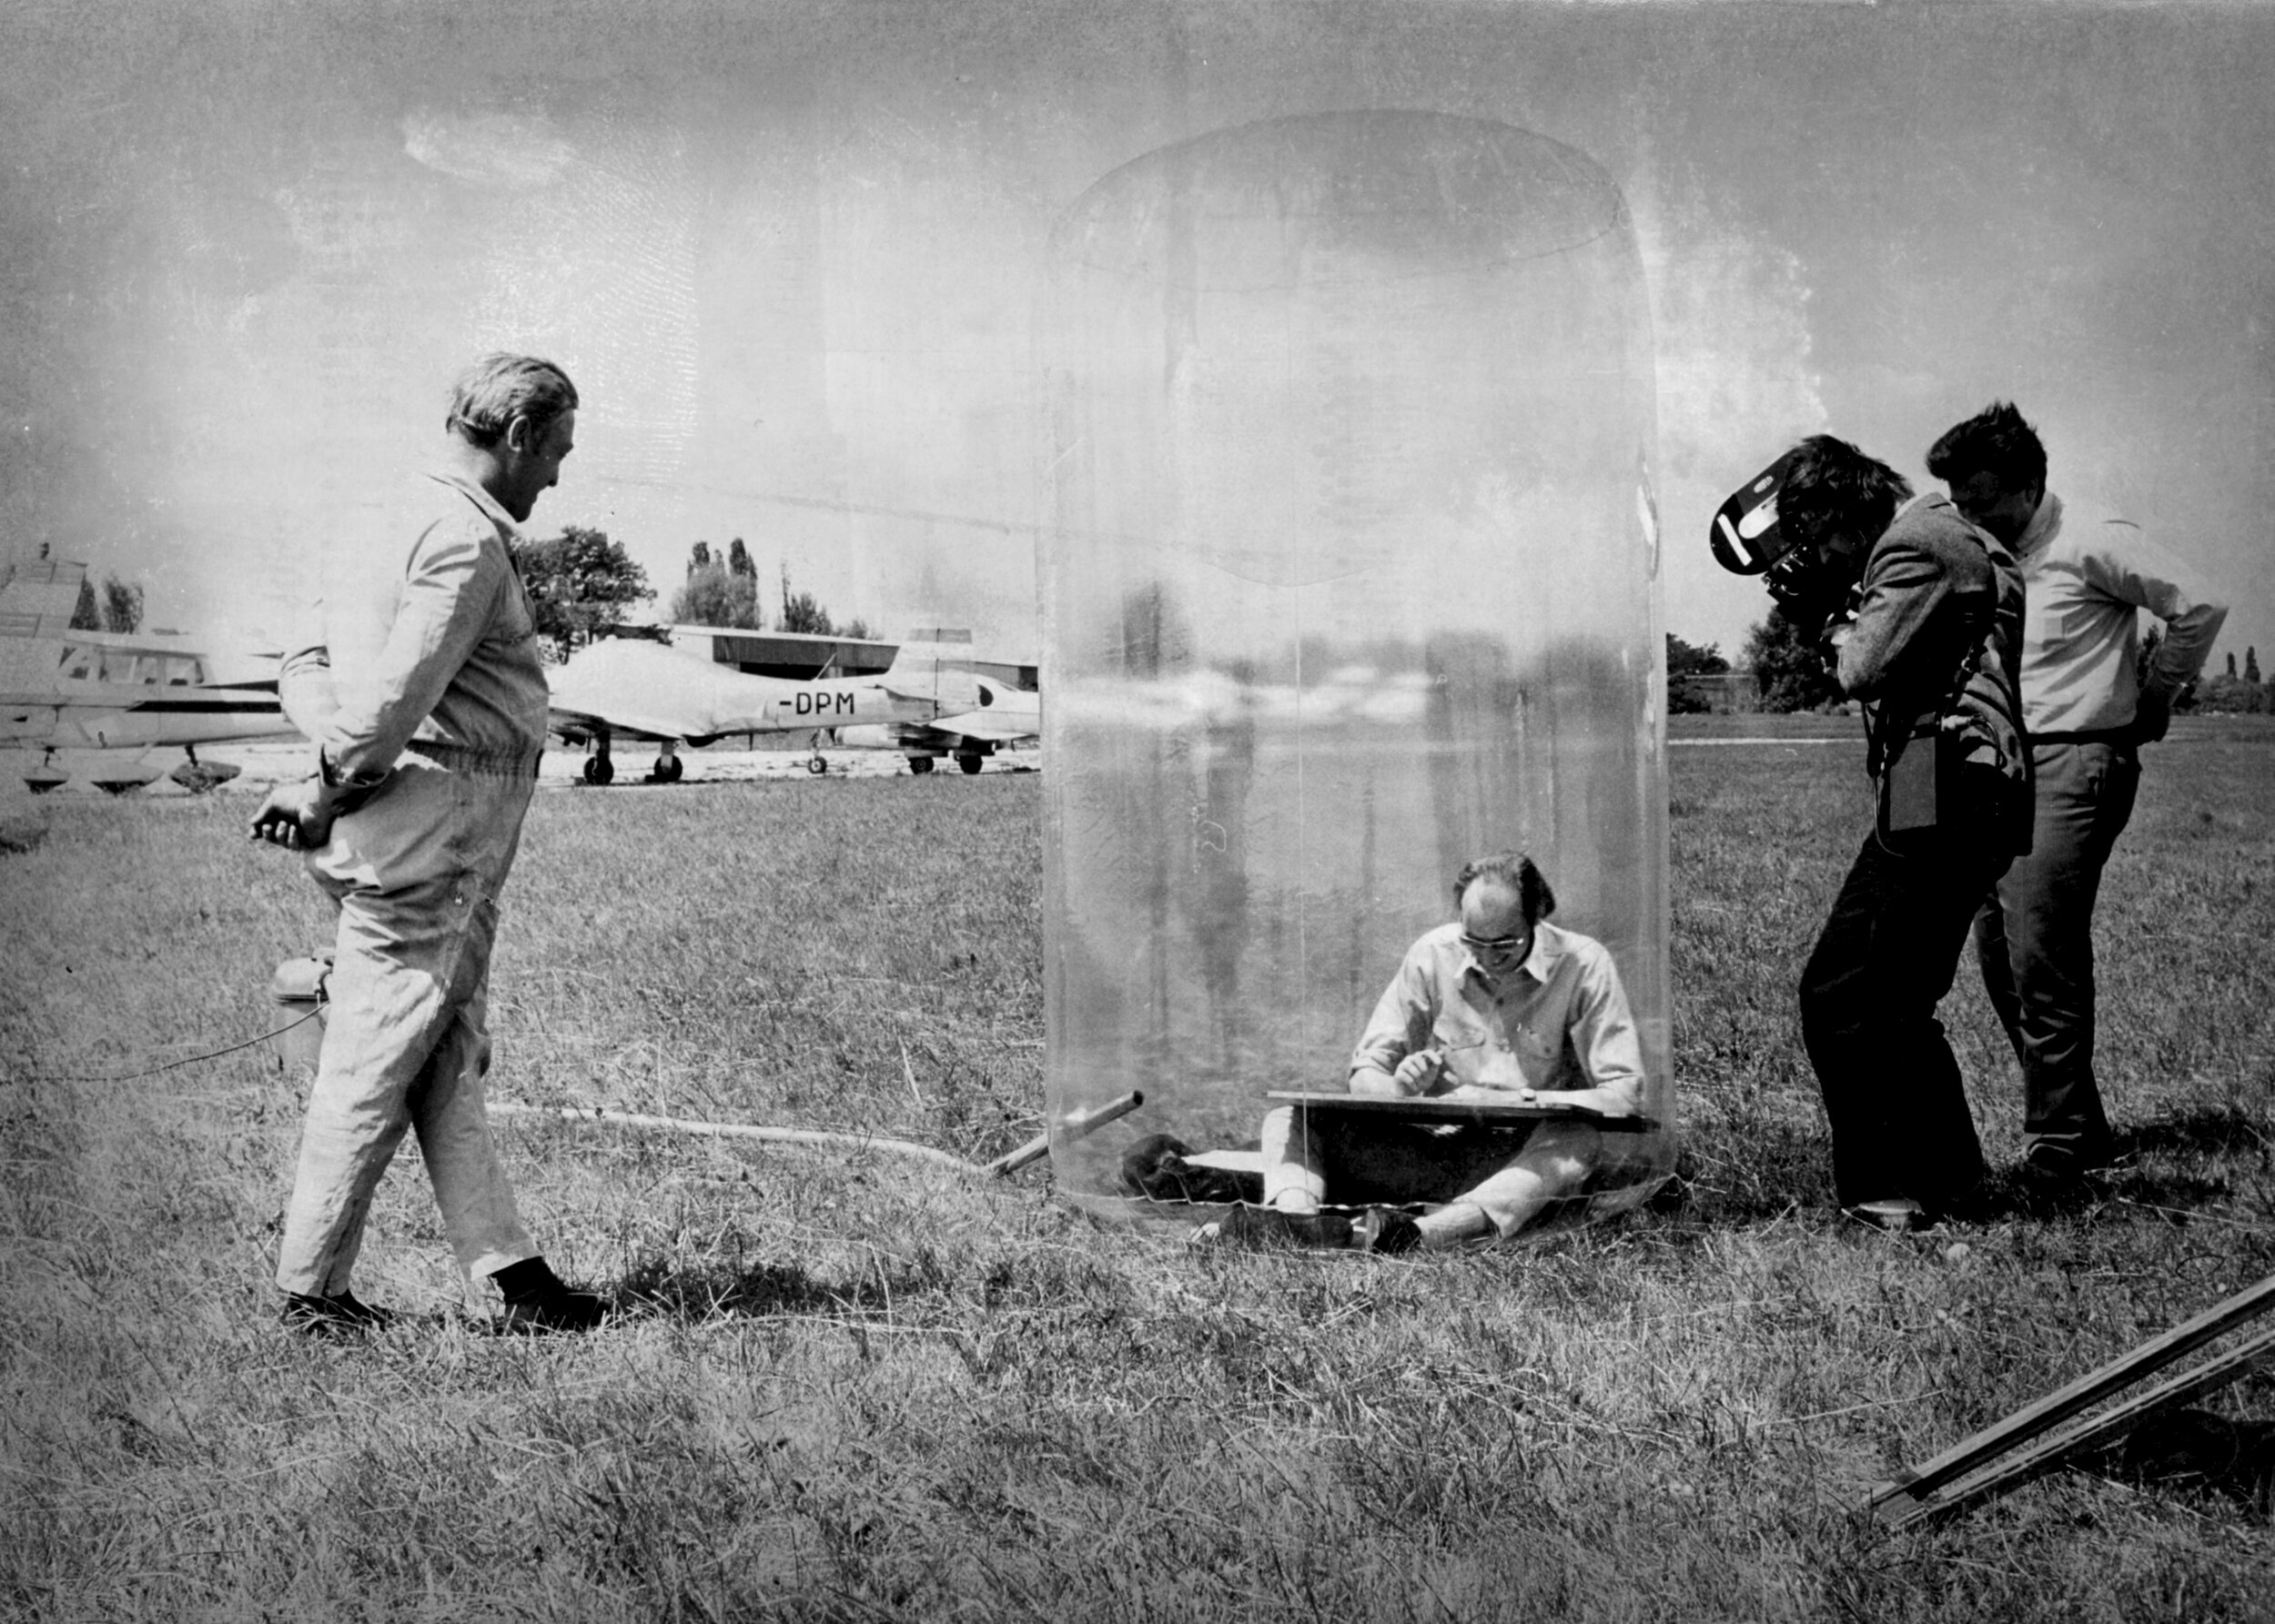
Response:
[{"label": "grey-haired man in pale overalls walking with hands behind his back", "polygon": [[503,1296],[500,1328],[603,1317],[530,1244],[482,1108],[498,889],[546,739],[546,678],[507,544],[560,478],[576,405],[551,362],[475,362],[453,391],[439,466],[378,523],[332,537],[284,657],[280,696],[316,744],[316,773],[271,792],[250,832],[305,851],[339,912],[278,1258],[293,1331],[341,1337],[384,1319],[348,1276],[405,1130],[460,1271]]}]

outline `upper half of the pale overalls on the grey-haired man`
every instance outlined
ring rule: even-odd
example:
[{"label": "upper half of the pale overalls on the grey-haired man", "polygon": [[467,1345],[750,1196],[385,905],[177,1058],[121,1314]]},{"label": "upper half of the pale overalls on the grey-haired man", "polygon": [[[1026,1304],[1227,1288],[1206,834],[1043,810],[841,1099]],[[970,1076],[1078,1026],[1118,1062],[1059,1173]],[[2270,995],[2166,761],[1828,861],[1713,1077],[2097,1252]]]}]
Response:
[{"label": "upper half of the pale overalls on the grey-haired man", "polygon": [[325,548],[284,653],[284,714],[344,778],[387,771],[414,741],[535,760],[546,676],[512,516],[480,484],[430,473],[407,507],[357,519]]}]

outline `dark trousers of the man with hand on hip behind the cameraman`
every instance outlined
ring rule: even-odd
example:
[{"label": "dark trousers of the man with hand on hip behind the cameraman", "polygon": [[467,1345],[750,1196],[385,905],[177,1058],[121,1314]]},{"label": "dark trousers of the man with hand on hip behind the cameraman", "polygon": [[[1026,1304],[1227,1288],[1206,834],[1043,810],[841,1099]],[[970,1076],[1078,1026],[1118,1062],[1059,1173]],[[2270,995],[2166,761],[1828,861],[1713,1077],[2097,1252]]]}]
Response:
[{"label": "dark trousers of the man with hand on hip behind the cameraman", "polygon": [[1975,917],[1984,989],[2022,1062],[2025,1155],[2054,1169],[2109,1160],[2093,1080],[2093,903],[2132,819],[2141,757],[2129,744],[2041,744],[2029,853]]}]

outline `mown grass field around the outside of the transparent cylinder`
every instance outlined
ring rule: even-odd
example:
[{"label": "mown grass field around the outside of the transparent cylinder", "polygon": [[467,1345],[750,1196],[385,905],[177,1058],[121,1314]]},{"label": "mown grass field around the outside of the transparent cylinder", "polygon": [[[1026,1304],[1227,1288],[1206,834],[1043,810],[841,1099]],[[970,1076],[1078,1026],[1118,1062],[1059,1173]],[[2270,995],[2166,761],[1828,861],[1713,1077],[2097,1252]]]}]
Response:
[{"label": "mown grass field around the outside of the transparent cylinder", "polygon": [[[1729,726],[1743,721],[1747,726]],[[1451,1258],[1299,1260],[981,1185],[528,1117],[585,1340],[453,1312],[416,1155],[359,1347],[273,1324],[318,946],[243,794],[0,803],[0,1613],[39,1619],[2264,1619],[2214,1490],[2063,1474],[1943,1531],[1863,1492],[2275,1271],[2275,730],[2152,751],[2100,914],[2107,1196],[1891,1240],[1829,1210],[1793,983],[1863,819],[1838,728],[1677,748],[1681,1171]],[[1686,723],[1688,728],[1688,723]],[[1037,1128],[1037,778],[539,796],[491,1092],[924,1140]],[[1995,1165],[2018,1083],[1947,1024]],[[2275,1410],[2259,1376],[2214,1401]]]}]

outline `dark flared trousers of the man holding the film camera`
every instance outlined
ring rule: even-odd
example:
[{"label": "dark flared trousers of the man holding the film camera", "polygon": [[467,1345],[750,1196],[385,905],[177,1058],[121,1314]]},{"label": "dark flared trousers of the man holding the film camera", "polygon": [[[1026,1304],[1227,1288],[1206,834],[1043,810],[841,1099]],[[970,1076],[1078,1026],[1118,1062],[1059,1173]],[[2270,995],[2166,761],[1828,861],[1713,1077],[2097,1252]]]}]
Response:
[{"label": "dark flared trousers of the man holding the film camera", "polygon": [[1840,1205],[1966,1205],[1984,1176],[1959,1060],[1936,1005],[1968,921],[2007,867],[1979,826],[1866,835],[1802,971],[1802,1042],[1834,1130]]}]

